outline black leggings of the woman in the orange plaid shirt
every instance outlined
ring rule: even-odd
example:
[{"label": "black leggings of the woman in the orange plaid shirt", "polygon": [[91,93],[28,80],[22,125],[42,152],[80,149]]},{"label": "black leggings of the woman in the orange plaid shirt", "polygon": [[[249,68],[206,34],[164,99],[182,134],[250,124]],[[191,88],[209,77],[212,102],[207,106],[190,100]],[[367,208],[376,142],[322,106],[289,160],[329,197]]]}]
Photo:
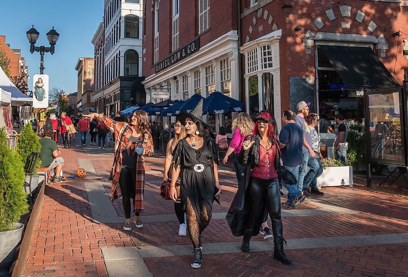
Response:
[{"label": "black leggings of the woman in the orange plaid shirt", "polygon": [[[119,186],[122,191],[122,205],[125,212],[126,219],[130,218],[131,205],[130,205],[130,196],[136,194],[136,169],[131,169],[123,167],[120,169],[119,175]],[[135,213],[136,216],[139,216],[140,213]]]}]

